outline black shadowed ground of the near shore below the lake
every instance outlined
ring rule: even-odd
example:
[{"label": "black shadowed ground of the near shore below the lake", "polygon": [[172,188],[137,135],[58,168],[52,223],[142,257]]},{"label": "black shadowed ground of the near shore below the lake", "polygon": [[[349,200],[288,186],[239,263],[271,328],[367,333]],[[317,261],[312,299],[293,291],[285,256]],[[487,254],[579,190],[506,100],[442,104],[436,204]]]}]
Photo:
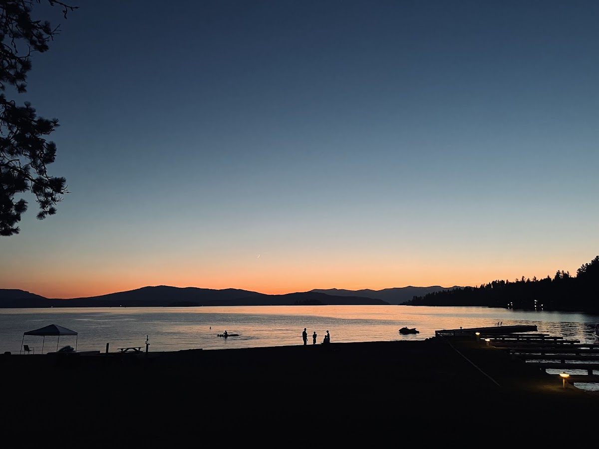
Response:
[{"label": "black shadowed ground of the near shore below the lake", "polygon": [[0,355],[0,369],[1,428],[17,437],[11,448],[245,440],[309,449],[373,447],[389,438],[392,445],[477,438],[495,447],[534,432],[537,442],[556,438],[594,423],[599,406],[597,396],[564,389],[558,378],[473,339]]}]

